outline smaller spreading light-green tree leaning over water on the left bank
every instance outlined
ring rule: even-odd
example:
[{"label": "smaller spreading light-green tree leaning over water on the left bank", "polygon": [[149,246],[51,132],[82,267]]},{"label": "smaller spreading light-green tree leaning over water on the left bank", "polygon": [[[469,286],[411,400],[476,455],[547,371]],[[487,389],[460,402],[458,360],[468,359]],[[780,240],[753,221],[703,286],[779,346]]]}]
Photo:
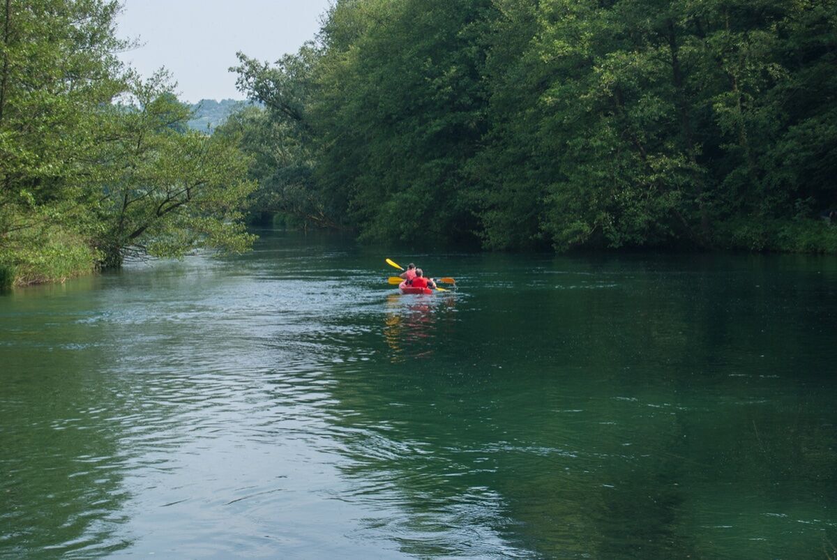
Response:
[{"label": "smaller spreading light-green tree leaning over water on the left bank", "polygon": [[246,249],[241,208],[254,188],[249,158],[231,135],[188,130],[189,107],[165,73],[137,80],[131,103],[113,105],[101,164],[110,169],[96,209],[103,265],[126,255],[181,256],[199,247]]}]

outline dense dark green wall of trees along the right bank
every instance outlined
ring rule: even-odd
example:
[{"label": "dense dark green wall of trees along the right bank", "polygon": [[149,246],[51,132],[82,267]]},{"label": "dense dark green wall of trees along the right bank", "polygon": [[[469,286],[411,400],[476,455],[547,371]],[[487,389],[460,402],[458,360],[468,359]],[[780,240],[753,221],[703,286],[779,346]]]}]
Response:
[{"label": "dense dark green wall of trees along the right bank", "polygon": [[837,246],[834,0],[340,0],[239,59],[257,208],[490,249]]}]

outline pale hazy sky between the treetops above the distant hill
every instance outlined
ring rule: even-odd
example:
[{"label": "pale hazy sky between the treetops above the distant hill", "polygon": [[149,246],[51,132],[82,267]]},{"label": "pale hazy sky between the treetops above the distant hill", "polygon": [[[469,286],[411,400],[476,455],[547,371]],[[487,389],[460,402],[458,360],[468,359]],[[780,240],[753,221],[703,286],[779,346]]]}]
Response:
[{"label": "pale hazy sky between the treetops above the distant hill", "polygon": [[143,76],[165,66],[180,99],[244,99],[235,89],[235,52],[274,62],[320,29],[329,0],[122,0],[121,39],[140,39],[121,54]]}]

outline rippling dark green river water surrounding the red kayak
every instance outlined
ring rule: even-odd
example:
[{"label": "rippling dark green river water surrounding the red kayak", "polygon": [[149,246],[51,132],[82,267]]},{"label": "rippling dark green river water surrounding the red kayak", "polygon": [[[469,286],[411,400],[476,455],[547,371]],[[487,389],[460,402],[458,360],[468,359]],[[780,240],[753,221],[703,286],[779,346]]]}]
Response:
[{"label": "rippling dark green river water surrounding the red kayak", "polygon": [[16,290],[0,557],[834,556],[835,326],[833,257],[268,233]]}]

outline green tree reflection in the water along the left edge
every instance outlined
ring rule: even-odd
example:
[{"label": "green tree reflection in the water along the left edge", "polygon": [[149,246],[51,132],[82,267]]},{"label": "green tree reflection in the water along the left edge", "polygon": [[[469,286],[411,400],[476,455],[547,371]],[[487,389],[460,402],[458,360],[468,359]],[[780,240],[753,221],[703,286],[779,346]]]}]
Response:
[{"label": "green tree reflection in the water along the left edge", "polygon": [[126,521],[120,418],[133,413],[130,391],[97,371],[103,356],[89,325],[60,328],[59,340],[34,335],[28,347],[0,353],[0,557],[98,555],[131,544],[114,539]]}]

